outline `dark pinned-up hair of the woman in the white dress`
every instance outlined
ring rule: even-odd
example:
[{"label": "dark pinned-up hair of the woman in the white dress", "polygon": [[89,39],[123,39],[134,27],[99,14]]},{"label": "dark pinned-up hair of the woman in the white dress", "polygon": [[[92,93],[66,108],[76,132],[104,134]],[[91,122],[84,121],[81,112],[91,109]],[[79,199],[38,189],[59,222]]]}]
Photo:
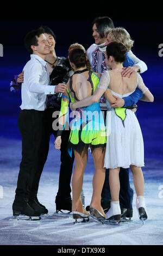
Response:
[{"label": "dark pinned-up hair of the woman in the white dress", "polygon": [[106,46],[106,54],[108,58],[114,57],[115,62],[124,62],[126,58],[127,47],[122,42],[110,42]]}]

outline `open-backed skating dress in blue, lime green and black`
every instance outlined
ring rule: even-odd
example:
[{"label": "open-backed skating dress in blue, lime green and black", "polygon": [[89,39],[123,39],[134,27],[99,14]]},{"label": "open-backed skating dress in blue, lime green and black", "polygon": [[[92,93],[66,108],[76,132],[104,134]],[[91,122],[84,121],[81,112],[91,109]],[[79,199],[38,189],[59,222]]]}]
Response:
[{"label": "open-backed skating dress in blue, lime green and black", "polygon": [[[87,81],[89,81],[91,84],[91,94],[93,95],[98,86],[99,77],[92,71],[89,71],[89,79]],[[71,92],[73,93],[74,97],[72,97]],[[72,77],[70,77],[70,87],[67,88],[67,93],[69,96],[69,101],[79,101],[72,88]],[[63,96],[61,101],[61,111],[59,117],[66,115],[68,111],[69,102],[65,101],[64,97],[65,96]],[[88,149],[89,147],[91,152],[95,148],[106,147],[106,130],[103,113],[99,106],[99,102],[95,102],[87,107],[78,108],[76,111],[71,112],[70,129],[71,132],[68,147],[75,149],[79,154],[82,154],[83,150]]]}]

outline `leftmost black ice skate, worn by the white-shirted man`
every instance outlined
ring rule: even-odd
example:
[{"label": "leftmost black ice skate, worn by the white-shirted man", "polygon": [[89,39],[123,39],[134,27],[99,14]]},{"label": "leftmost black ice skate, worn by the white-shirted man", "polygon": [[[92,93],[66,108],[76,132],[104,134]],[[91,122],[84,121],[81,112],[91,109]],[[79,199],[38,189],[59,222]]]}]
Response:
[{"label": "leftmost black ice skate, worn by the white-shirted man", "polygon": [[35,211],[27,203],[26,206],[12,205],[14,220],[25,220],[25,221],[39,221],[41,220],[40,213]]}]

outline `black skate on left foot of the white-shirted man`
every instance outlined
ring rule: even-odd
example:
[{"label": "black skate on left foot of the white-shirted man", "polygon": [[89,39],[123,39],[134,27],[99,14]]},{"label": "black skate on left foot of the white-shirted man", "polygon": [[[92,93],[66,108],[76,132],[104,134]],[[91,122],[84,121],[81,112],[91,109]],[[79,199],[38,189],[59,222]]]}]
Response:
[{"label": "black skate on left foot of the white-shirted man", "polygon": [[27,202],[14,200],[12,204],[13,216],[17,220],[41,220],[40,213],[35,211]]}]

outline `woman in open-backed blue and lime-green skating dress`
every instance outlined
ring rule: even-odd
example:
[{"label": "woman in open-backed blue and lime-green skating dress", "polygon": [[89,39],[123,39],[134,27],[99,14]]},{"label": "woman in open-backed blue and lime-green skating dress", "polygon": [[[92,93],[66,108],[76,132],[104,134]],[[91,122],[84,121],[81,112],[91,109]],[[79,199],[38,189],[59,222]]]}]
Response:
[{"label": "woman in open-backed blue and lime-green skating dress", "polygon": [[[68,112],[68,104],[78,102],[84,97],[91,96],[99,83],[100,74],[86,68],[87,57],[83,50],[75,48],[69,53],[70,64],[74,74],[67,83],[67,92],[62,96],[59,115],[59,131],[54,142],[55,148],[60,149],[61,131],[64,128]],[[106,147],[106,133],[103,114],[99,102],[82,107],[71,112],[69,147],[74,150],[75,167],[72,176],[72,214],[73,218],[88,218],[89,213],[83,208],[80,193],[83,185],[83,175],[87,163],[87,152],[91,149],[95,163],[93,175],[93,194],[90,203],[90,214],[97,220],[104,221],[106,216],[101,206],[101,192],[105,179],[104,156]]]}]

